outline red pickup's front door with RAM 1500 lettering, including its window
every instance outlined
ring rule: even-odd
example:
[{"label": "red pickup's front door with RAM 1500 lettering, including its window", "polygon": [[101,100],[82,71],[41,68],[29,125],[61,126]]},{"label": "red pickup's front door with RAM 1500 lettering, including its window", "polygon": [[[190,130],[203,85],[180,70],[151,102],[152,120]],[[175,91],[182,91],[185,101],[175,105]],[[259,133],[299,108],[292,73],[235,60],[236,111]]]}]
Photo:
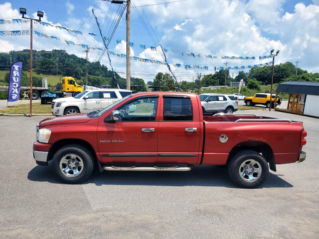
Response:
[{"label": "red pickup's front door with RAM 1500 lettering, including its window", "polygon": [[[116,109],[115,123],[100,117],[97,142],[104,163],[158,163],[158,103],[159,95],[136,97]],[[130,112],[134,104],[136,110]]]}]

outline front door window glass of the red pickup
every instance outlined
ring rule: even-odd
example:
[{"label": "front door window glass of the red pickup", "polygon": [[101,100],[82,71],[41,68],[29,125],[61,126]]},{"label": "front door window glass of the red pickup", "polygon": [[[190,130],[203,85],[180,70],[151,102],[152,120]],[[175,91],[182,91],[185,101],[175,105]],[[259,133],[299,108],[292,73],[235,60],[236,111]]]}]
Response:
[{"label": "front door window glass of the red pickup", "polygon": [[119,109],[118,121],[155,121],[158,97],[138,99]]}]

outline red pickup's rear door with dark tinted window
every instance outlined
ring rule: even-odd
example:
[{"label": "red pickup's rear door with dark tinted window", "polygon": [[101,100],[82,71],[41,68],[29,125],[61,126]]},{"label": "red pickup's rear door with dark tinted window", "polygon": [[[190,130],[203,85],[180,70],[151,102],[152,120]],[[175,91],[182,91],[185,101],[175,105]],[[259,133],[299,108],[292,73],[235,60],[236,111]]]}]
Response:
[{"label": "red pickup's rear door with dark tinted window", "polygon": [[197,98],[163,93],[158,130],[159,163],[196,164],[201,127]]}]

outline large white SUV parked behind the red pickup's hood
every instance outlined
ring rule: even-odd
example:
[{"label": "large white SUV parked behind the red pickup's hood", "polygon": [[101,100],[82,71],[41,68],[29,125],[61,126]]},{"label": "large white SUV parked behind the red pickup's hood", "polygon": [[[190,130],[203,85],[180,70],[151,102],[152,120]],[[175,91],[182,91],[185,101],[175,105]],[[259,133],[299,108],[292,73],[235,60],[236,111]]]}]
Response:
[{"label": "large white SUV parked behind the red pickup's hood", "polygon": [[[122,89],[93,89],[82,91],[75,97],[58,98],[52,101],[51,112],[53,115],[66,115],[88,113],[101,110],[112,105],[119,99],[132,94],[132,91]],[[130,111],[134,112],[134,106]]]}]

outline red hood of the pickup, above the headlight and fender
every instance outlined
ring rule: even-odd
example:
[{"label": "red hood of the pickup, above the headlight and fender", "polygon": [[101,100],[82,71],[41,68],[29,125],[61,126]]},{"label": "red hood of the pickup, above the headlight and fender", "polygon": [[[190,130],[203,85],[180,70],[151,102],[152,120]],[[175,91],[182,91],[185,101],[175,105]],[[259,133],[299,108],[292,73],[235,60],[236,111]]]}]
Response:
[{"label": "red hood of the pickup, above the headlight and fender", "polygon": [[45,127],[45,126],[49,126],[49,125],[85,123],[91,119],[92,118],[87,117],[87,113],[63,115],[63,116],[58,116],[55,118],[42,120],[40,122],[39,126]]}]

